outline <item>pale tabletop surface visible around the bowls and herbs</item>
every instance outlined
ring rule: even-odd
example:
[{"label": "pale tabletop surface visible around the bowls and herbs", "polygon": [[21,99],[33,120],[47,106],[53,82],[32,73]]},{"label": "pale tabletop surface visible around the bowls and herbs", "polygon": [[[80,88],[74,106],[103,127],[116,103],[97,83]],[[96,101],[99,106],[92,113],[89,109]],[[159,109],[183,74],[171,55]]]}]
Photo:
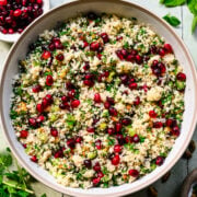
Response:
[{"label": "pale tabletop surface visible around the bowls and herbs", "polygon": [[[109,1],[109,0],[108,0]],[[129,1],[129,0],[128,0]],[[175,28],[176,33],[183,38],[185,44],[187,45],[190,54],[194,58],[195,63],[197,65],[197,31],[194,35],[190,34],[190,26],[193,15],[188,11],[187,7],[177,7],[177,8],[165,8],[159,3],[159,0],[130,0],[136,2],[150,11],[154,12],[159,16],[163,16],[167,13],[171,13],[177,16],[182,24],[179,27]],[[63,2],[68,2],[68,0],[50,0],[50,8],[55,8]],[[0,68],[2,68],[3,61],[7,57],[7,54],[10,49],[10,44],[0,42]],[[195,132],[193,139],[197,141],[197,132]],[[3,135],[0,132],[0,150],[3,150],[7,147],[7,142],[4,140]],[[158,181],[153,184],[159,192],[159,197],[178,197],[179,190],[182,187],[182,182],[185,176],[190,172],[193,169],[197,167],[197,153],[193,154],[193,159],[187,161],[181,159],[176,165],[172,169],[172,174],[170,179],[162,184],[161,181]],[[36,190],[36,196],[40,196],[42,194],[46,193],[47,197],[67,197],[67,195],[59,194],[47,186],[43,185],[42,183],[33,184],[33,188]],[[147,189],[138,192],[134,195],[129,195],[129,197],[146,197]]]}]

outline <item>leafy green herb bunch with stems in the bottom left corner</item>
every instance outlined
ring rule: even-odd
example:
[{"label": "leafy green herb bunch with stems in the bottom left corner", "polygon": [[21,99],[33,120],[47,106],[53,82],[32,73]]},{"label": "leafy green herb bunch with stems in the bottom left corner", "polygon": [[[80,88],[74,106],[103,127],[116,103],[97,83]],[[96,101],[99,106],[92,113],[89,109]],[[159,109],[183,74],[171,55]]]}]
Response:
[{"label": "leafy green herb bunch with stems in the bottom left corner", "polygon": [[15,161],[16,170],[10,170],[13,159],[10,149],[0,153],[0,197],[33,197],[32,176]]}]

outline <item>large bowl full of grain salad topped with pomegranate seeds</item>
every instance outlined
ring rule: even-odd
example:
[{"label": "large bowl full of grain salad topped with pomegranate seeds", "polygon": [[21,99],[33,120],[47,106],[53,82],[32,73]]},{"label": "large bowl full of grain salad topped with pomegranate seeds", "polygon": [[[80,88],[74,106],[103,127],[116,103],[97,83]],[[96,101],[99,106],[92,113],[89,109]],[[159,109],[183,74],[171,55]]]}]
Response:
[{"label": "large bowl full of grain salad topped with pomegranate seeds", "polygon": [[123,196],[159,179],[196,125],[182,39],[125,1],[73,1],[37,19],[1,74],[1,121],[19,162],[72,196]]}]

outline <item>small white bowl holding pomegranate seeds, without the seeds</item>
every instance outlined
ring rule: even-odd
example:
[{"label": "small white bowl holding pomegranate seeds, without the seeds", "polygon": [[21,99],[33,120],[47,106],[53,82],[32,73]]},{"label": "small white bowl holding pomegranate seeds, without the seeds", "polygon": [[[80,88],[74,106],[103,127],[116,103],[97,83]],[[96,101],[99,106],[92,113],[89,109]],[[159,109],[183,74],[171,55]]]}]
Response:
[{"label": "small white bowl holding pomegranate seeds, without the seeds", "polygon": [[[49,0],[44,0],[44,3],[43,3],[43,14],[46,13],[49,9],[50,9]],[[21,36],[20,33],[2,34],[0,32],[0,40],[7,42],[7,43],[14,43],[14,42],[16,42],[19,39],[20,36]]]}]

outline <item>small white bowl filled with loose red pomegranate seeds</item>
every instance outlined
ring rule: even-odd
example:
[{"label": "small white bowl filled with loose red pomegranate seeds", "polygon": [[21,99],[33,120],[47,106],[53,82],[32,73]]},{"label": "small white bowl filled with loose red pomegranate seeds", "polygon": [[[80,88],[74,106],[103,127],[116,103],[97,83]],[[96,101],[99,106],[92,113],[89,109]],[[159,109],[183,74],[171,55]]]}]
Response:
[{"label": "small white bowl filled with loose red pomegranate seeds", "polygon": [[49,0],[0,0],[0,40],[14,43],[35,19],[49,10]]}]

